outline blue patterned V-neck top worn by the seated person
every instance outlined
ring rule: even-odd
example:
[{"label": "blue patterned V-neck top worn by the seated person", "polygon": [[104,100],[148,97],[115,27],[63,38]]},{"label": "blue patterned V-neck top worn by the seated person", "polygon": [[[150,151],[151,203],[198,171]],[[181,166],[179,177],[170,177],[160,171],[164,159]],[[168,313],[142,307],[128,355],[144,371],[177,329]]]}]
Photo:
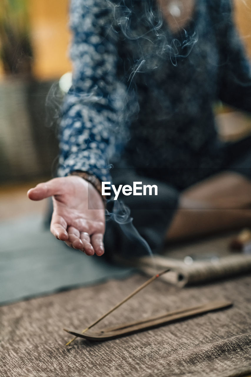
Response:
[{"label": "blue patterned V-neck top worn by the seated person", "polygon": [[249,64],[229,0],[197,0],[176,34],[154,0],[72,0],[70,28],[60,176],[83,170],[110,181],[110,164],[122,159],[149,175],[165,169],[182,189],[222,165],[213,104],[251,111]]}]

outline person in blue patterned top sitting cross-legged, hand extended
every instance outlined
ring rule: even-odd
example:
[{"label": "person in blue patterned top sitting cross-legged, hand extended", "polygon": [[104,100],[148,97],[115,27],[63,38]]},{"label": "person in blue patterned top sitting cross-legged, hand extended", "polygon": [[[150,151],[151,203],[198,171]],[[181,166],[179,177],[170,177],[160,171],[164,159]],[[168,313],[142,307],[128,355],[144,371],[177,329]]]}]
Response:
[{"label": "person in blue patterned top sitting cross-legged, hand extended", "polygon": [[[100,186],[112,178],[158,185],[158,196],[123,197],[156,252],[166,239],[251,224],[250,140],[223,144],[214,126],[218,100],[251,111],[230,0],[72,0],[70,25],[60,177],[28,192],[53,197],[55,237],[87,255],[104,253]],[[116,211],[117,203],[113,219]],[[106,235],[110,253],[144,252],[115,221]]]}]

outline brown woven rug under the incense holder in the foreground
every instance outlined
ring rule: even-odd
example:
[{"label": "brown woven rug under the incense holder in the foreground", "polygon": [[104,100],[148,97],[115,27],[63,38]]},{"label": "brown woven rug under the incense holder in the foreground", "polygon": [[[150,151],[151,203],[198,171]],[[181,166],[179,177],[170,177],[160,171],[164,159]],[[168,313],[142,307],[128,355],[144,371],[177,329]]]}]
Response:
[{"label": "brown woven rug under the incense holder in the foreground", "polygon": [[70,339],[142,284],[139,274],[0,308],[4,377],[227,377],[251,372],[251,276],[177,288],[156,280],[97,328],[228,299],[232,308],[107,342]]}]

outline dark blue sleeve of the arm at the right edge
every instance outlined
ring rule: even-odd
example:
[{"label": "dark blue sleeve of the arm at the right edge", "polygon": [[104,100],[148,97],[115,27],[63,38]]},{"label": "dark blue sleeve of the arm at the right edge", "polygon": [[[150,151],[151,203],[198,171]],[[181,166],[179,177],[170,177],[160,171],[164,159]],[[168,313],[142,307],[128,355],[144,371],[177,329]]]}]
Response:
[{"label": "dark blue sleeve of the arm at the right edge", "polygon": [[[234,26],[230,0],[221,1],[218,36],[220,61],[219,98],[224,103],[251,112],[251,69]],[[223,20],[223,21],[222,21]]]}]

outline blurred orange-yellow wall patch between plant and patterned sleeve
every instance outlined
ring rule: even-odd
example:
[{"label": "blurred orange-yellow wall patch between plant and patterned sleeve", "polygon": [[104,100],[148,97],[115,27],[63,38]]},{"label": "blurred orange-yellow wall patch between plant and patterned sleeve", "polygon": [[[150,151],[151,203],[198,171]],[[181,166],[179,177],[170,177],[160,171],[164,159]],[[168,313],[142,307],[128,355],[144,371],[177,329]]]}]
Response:
[{"label": "blurred orange-yellow wall patch between plant and patterned sleeve", "polygon": [[38,80],[53,80],[71,70],[68,59],[68,0],[29,0],[33,73]]}]

